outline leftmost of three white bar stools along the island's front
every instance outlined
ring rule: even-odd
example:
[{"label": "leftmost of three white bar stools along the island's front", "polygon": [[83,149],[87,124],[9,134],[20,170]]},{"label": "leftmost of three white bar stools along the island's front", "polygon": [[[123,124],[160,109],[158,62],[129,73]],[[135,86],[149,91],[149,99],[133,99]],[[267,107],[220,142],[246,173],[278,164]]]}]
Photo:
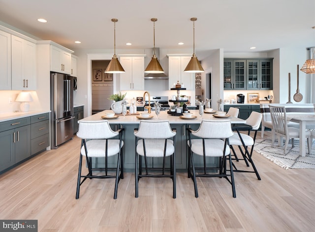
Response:
[{"label": "leftmost of three white bar stools along the island's front", "polygon": [[[123,168],[123,138],[124,129],[113,131],[107,120],[103,121],[80,121],[77,136],[81,138],[80,161],[77,181],[76,199],[79,198],[80,186],[87,179],[115,178],[114,199],[117,198],[118,183],[124,179]],[[115,138],[118,137],[118,138]],[[108,167],[108,157],[118,155],[116,167]],[[82,175],[82,156],[86,157],[88,174]],[[92,158],[105,158],[105,167],[93,167]],[[94,175],[93,171],[97,171]],[[105,175],[99,175],[99,172]],[[115,171],[115,175],[110,173]],[[81,179],[83,179],[81,181]]]}]

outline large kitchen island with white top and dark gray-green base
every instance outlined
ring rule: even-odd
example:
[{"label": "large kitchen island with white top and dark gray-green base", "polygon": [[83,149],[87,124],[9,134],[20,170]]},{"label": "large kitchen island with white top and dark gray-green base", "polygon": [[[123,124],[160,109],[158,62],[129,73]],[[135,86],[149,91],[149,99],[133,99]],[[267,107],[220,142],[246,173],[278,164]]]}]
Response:
[{"label": "large kitchen island with white top and dark gray-green base", "polygon": [[[167,111],[161,111],[160,114],[157,115],[155,112],[151,112],[151,116],[153,118],[147,119],[147,120],[168,120],[170,122],[171,128],[176,129],[176,169],[178,171],[180,170],[186,170],[187,169],[187,157],[188,157],[188,151],[187,151],[187,132],[186,128],[191,128],[193,130],[196,130],[199,128],[201,117],[198,114],[198,110],[189,110],[193,116],[196,116],[194,119],[182,119],[179,116],[172,116],[170,114],[167,114]],[[101,121],[104,120],[101,117],[106,116],[106,112],[112,112],[111,110],[104,110],[97,114],[94,114],[92,116],[86,117],[84,119],[79,120],[79,127],[80,127],[80,121]],[[141,114],[141,111],[138,113]],[[136,117],[137,115],[119,115],[118,118],[108,119],[108,122],[113,130],[117,130],[120,128],[124,128],[124,168],[125,171],[134,171],[134,160],[135,160],[135,137],[134,137],[134,129],[137,129],[139,127],[140,119]],[[213,119],[213,120],[222,120],[219,118],[213,117],[213,114],[210,113],[204,113],[203,114],[204,119]],[[244,124],[246,123],[245,120],[242,120],[240,118],[230,117],[228,118],[231,120],[232,124]],[[112,158],[112,159],[110,159]],[[196,157],[198,158],[198,157]],[[111,165],[115,165],[117,157],[109,157],[108,160],[110,160]],[[207,162],[211,166],[218,166],[218,159],[209,157],[207,158]],[[203,163],[203,161],[200,159],[200,162],[198,160],[195,161],[195,164]],[[102,159],[94,159],[93,165],[94,167],[102,167],[104,164],[104,160]],[[153,160],[150,160],[150,166],[152,167],[160,167],[162,165],[162,159],[153,162]]]}]

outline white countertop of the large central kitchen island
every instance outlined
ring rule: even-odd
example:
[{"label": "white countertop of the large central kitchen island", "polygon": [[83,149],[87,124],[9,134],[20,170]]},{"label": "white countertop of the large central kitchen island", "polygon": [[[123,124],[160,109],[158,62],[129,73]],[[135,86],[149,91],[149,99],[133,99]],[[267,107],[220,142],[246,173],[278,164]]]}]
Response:
[{"label": "white countertop of the large central kitchen island", "polygon": [[[181,119],[179,116],[172,116],[170,114],[167,114],[167,111],[161,111],[158,118],[155,112],[151,112],[151,116],[153,116],[152,119],[148,120],[168,120],[170,124],[200,124],[201,117],[198,114],[198,110],[189,110],[192,115],[197,116],[195,119]],[[112,110],[104,110],[99,113],[93,114],[89,117],[83,118],[80,121],[102,121],[103,119],[101,116],[106,116],[106,112],[112,112]],[[142,111],[138,111],[138,113],[141,114]],[[212,119],[212,120],[222,120],[221,118],[215,118],[213,117],[213,114],[204,113],[202,116],[204,119]],[[232,124],[245,124],[246,121],[240,118],[235,117],[229,117],[229,120],[231,120]],[[115,119],[108,119],[108,122],[110,124],[139,124],[140,119],[136,117],[136,115],[119,115],[118,118]]]}]

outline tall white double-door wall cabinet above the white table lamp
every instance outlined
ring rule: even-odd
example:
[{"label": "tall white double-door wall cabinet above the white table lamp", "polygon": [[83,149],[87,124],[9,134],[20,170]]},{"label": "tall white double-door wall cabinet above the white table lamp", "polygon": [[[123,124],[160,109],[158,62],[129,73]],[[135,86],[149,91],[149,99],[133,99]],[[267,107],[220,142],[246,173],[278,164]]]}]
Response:
[{"label": "tall white double-door wall cabinet above the white table lamp", "polygon": [[36,89],[36,44],[11,35],[11,89]]}]

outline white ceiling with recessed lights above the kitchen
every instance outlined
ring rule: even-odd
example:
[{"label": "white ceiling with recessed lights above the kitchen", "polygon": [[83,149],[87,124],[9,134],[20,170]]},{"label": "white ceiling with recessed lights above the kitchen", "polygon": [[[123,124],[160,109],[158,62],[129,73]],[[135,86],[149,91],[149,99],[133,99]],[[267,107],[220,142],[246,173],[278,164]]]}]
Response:
[{"label": "white ceiling with recessed lights above the kitchen", "polygon": [[[0,21],[71,50],[156,47],[265,52],[315,46],[315,0],[0,0]],[[45,18],[48,23],[38,23]],[[79,40],[81,44],[74,44]],[[132,46],[126,46],[126,43]],[[179,46],[178,42],[184,42]],[[250,47],[256,50],[250,50]]]}]

